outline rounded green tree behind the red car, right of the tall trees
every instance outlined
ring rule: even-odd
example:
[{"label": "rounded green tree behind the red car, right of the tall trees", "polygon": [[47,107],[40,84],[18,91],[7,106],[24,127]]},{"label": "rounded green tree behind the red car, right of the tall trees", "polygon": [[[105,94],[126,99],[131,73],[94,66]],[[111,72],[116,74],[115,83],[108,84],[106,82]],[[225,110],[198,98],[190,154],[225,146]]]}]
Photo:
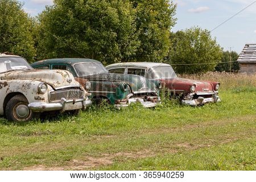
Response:
[{"label": "rounded green tree behind the red car, right of the tall trees", "polygon": [[[222,57],[222,48],[210,31],[192,27],[172,34],[173,46],[166,60],[177,73],[205,73],[213,71]],[[188,65],[191,64],[191,65]],[[196,64],[196,65],[192,65]]]}]

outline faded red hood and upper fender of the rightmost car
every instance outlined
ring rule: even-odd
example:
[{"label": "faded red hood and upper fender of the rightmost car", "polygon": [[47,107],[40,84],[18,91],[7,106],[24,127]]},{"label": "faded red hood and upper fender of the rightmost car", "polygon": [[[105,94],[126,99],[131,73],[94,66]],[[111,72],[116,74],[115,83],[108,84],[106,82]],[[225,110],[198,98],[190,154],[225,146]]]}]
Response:
[{"label": "faded red hood and upper fender of the rightmost car", "polygon": [[162,78],[159,81],[170,90],[185,92],[190,92],[191,86],[196,85],[196,93],[214,92],[214,85],[218,84],[218,82],[197,81],[185,78]]}]

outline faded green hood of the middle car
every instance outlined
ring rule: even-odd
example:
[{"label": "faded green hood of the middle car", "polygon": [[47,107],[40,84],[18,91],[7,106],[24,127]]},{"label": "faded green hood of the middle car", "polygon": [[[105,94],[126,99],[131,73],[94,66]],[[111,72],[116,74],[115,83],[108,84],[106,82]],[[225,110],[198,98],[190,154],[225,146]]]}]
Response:
[{"label": "faded green hood of the middle car", "polygon": [[[101,73],[97,75],[82,76],[80,78],[85,78],[93,81],[100,82],[126,82],[130,85],[132,92],[155,92],[156,86],[153,81],[148,80],[143,76],[137,75],[125,75],[125,74],[115,74],[115,73]],[[91,89],[92,90],[92,89]]]}]

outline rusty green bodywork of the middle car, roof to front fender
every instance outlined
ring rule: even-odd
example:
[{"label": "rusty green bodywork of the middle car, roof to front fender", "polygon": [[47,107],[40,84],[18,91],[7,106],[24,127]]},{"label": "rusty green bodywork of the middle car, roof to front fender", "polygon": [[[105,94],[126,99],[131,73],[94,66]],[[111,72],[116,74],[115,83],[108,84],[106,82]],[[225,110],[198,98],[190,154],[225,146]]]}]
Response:
[{"label": "rusty green bodywork of the middle car, roof to front fender", "polygon": [[[96,67],[96,65],[92,66],[92,63],[99,64],[97,67],[102,65],[96,60],[73,58],[49,59],[38,61],[31,65],[36,69],[40,69],[40,67],[43,67],[44,65],[48,65],[50,69],[53,69],[52,65],[66,65],[67,68],[73,69],[73,76],[77,77],[76,80],[79,81],[82,86],[84,86],[84,80],[90,81],[90,99],[107,99],[110,104],[115,104],[115,102],[127,99],[128,96],[129,98],[140,97],[142,100],[148,102],[152,102],[153,100],[145,100],[145,96],[158,96],[158,90],[154,82],[147,80],[145,77],[137,75],[110,74],[106,71],[103,65],[101,71],[96,68],[90,69],[86,72],[84,69],[80,70],[80,68]],[[84,64],[88,64],[88,67],[84,67]],[[122,88],[123,84],[127,84],[127,90]],[[158,99],[154,99],[154,101],[157,102]],[[126,102],[128,102],[128,100],[126,100]]]}]

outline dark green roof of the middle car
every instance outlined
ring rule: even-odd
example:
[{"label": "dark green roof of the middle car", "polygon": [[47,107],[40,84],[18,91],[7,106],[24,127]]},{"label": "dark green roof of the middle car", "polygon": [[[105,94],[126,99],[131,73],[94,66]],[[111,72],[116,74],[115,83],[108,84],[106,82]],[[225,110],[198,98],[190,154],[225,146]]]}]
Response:
[{"label": "dark green roof of the middle car", "polygon": [[32,66],[42,64],[77,64],[77,63],[101,63],[100,61],[85,58],[57,58],[57,59],[46,59],[32,63]]}]

